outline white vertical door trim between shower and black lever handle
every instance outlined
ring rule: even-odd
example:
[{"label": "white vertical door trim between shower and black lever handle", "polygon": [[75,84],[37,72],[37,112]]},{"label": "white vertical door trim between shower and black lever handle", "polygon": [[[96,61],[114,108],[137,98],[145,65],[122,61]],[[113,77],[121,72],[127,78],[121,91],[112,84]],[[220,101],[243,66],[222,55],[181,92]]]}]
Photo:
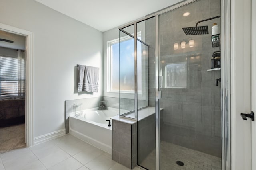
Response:
[{"label": "white vertical door trim between shower and black lever handle", "polygon": [[[255,122],[250,118],[243,120],[240,116],[240,113],[250,113],[255,107],[255,104],[251,105],[251,92],[255,90],[251,88],[251,49],[256,48],[255,45],[251,48],[251,0],[231,0],[230,31],[231,169],[251,170],[255,164],[255,157],[251,155],[251,149],[254,149],[251,147],[251,125]],[[252,76],[255,76],[253,72]]]}]

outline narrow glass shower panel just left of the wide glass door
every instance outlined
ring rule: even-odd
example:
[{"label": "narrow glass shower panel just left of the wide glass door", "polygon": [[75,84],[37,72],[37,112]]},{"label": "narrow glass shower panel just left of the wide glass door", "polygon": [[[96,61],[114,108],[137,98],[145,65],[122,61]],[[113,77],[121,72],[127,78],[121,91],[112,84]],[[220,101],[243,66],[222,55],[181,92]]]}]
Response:
[{"label": "narrow glass shower panel just left of the wide glass door", "polygon": [[137,23],[137,37],[137,163],[146,169],[155,170],[155,17]]}]

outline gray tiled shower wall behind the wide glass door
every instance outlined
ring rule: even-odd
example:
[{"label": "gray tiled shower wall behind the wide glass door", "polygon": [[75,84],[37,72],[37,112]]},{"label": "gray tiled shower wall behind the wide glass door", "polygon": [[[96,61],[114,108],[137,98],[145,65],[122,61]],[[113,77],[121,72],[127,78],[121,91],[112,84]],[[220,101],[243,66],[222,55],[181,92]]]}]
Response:
[{"label": "gray tiled shower wall behind the wide glass door", "polygon": [[[190,12],[190,16],[182,14]],[[161,140],[221,157],[221,91],[220,70],[210,71],[211,55],[219,51],[212,48],[211,28],[220,18],[199,23],[208,25],[208,35],[185,35],[182,27],[194,27],[200,20],[220,15],[220,0],[199,0],[187,6],[167,12],[159,17],[160,75],[163,76],[163,108],[161,122]],[[149,21],[151,22],[151,21]],[[148,23],[151,25],[151,23]],[[154,41],[154,29],[146,26],[148,41]],[[146,36],[146,37],[147,37]],[[194,47],[188,41],[194,40]],[[186,41],[186,48],[180,48],[180,42]],[[153,43],[153,42],[152,42]],[[174,43],[179,49],[174,50]],[[151,49],[154,54],[154,49]],[[149,57],[149,106],[155,105],[154,57]],[[187,62],[187,87],[165,88],[166,64]]]}]

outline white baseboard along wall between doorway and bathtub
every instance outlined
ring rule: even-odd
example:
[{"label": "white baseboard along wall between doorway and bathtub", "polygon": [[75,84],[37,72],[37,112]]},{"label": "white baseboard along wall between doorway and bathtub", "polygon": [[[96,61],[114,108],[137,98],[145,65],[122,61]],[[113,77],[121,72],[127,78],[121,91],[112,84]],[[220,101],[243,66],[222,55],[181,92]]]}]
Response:
[{"label": "white baseboard along wall between doorway and bathtub", "polygon": [[64,136],[64,135],[65,135],[65,129],[61,129],[61,130],[58,130],[58,131],[47,133],[45,135],[34,137],[34,145],[38,145],[38,144],[43,143],[45,141],[50,141],[51,139],[55,139],[57,137],[61,137],[61,136]]}]

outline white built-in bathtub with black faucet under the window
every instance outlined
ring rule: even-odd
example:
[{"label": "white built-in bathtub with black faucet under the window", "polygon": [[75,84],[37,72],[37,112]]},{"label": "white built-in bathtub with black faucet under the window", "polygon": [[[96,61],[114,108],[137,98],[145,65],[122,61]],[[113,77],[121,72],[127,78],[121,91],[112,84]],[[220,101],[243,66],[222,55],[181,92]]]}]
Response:
[{"label": "white built-in bathtub with black faucet under the window", "polygon": [[[75,137],[112,154],[112,119],[119,113],[118,109],[97,110],[98,108],[83,110],[82,115],[69,115],[69,133]],[[110,120],[111,126],[108,126]]]}]

